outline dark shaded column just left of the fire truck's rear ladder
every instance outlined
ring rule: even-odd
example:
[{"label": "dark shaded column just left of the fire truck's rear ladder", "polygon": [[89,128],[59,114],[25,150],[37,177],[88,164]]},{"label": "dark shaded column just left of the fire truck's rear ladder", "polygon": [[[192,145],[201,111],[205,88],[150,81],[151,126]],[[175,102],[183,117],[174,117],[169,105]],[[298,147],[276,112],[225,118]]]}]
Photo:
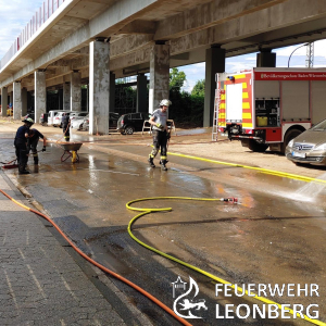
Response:
[{"label": "dark shaded column just left of the fire truck's rear ladder", "polygon": [[213,125],[214,97],[216,89],[215,75],[225,72],[225,49],[212,47],[206,50],[205,58],[205,98],[203,126]]}]

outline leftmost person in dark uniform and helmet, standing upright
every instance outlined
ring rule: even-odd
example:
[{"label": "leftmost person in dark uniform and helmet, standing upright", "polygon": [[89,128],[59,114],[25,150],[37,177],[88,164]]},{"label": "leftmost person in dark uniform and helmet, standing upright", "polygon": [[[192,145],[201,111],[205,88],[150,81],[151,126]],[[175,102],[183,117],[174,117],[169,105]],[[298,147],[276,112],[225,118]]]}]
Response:
[{"label": "leftmost person in dark uniform and helmet, standing upright", "polygon": [[29,171],[26,170],[27,160],[28,160],[28,150],[27,150],[27,139],[29,137],[29,128],[34,124],[33,118],[27,117],[22,121],[23,126],[18,127],[14,146],[16,148],[16,156],[18,163],[18,173],[20,174],[29,174]]}]

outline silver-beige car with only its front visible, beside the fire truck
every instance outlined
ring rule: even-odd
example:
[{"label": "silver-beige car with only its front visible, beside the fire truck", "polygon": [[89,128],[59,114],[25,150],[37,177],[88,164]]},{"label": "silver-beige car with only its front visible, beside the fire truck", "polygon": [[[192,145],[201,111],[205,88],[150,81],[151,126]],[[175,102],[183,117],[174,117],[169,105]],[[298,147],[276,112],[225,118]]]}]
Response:
[{"label": "silver-beige car with only its front visible, beside the fire truck", "polygon": [[285,154],[294,163],[326,165],[326,120],[290,140]]}]

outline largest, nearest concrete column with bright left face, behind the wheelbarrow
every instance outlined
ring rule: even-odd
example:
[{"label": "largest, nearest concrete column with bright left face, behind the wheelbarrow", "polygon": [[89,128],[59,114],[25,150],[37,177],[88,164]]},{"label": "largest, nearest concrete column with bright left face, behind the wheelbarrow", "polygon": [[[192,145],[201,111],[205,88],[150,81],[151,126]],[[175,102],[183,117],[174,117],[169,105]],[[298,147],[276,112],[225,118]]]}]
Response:
[{"label": "largest, nearest concrete column with bright left face, behind the wheelbarrow", "polygon": [[89,43],[89,135],[109,134],[110,43]]}]

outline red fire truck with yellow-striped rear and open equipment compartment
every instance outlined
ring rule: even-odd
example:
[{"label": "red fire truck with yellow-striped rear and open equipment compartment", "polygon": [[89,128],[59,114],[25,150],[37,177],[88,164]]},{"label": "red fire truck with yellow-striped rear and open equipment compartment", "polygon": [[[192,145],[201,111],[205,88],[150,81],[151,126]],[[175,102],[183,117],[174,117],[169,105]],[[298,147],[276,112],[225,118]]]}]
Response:
[{"label": "red fire truck with yellow-striped rear and open equipment compartment", "polygon": [[216,82],[216,135],[252,151],[284,153],[291,139],[326,118],[326,68],[255,67],[217,74]]}]

